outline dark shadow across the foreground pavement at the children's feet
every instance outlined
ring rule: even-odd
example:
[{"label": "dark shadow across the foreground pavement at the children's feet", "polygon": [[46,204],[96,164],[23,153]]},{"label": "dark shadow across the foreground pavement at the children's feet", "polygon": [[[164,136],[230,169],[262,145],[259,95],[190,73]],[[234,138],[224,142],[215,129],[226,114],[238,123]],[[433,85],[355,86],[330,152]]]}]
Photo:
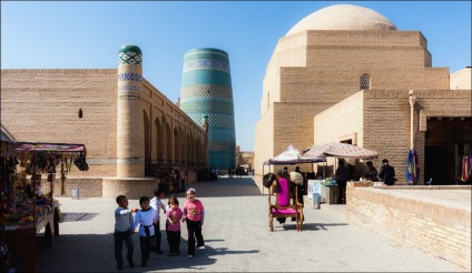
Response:
[{"label": "dark shadow across the foreground pavement at the children's feet", "polygon": [[[79,224],[79,223],[78,223]],[[146,267],[140,266],[141,253],[139,249],[139,236],[134,235],[135,267],[129,267],[126,262],[126,247],[122,250],[124,271],[119,272],[142,272],[142,271],[173,271],[173,270],[203,270],[207,265],[217,262],[213,256],[237,255],[245,253],[258,253],[258,250],[232,251],[227,247],[205,247],[196,250],[193,259],[187,257],[187,240],[180,239],[180,254],[168,256],[168,245],[166,235],[163,234],[163,254],[154,252]],[[217,242],[225,240],[207,240]],[[114,256],[114,235],[109,234],[76,234],[60,235],[55,237],[52,247],[45,247],[42,243],[37,245],[37,270],[38,272],[118,272]]]}]

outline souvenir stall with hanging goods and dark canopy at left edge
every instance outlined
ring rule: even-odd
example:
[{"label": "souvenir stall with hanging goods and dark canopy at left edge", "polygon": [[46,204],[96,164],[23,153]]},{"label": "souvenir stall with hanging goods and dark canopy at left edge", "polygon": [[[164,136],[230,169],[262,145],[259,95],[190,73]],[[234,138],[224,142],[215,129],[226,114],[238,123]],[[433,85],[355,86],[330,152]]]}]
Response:
[{"label": "souvenir stall with hanging goods and dark canopy at left edge", "polygon": [[[45,231],[46,246],[59,235],[60,210],[52,198],[56,166],[61,164],[65,183],[71,163],[88,169],[85,156],[82,144],[0,141],[2,270],[36,272],[38,233]],[[48,186],[41,186],[43,176]]]}]

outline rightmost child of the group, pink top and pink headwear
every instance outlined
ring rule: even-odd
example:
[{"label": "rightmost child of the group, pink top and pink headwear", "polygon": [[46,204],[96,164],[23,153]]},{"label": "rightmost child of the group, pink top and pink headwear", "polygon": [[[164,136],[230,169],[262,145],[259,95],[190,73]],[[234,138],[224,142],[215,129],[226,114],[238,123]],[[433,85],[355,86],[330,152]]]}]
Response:
[{"label": "rightmost child of the group, pink top and pink headwear", "polygon": [[196,191],[194,188],[187,190],[187,201],[184,204],[184,216],[181,222],[187,222],[188,232],[188,257],[195,255],[195,240],[197,240],[197,249],[205,245],[204,236],[201,234],[201,226],[205,221],[204,204],[196,199]]}]

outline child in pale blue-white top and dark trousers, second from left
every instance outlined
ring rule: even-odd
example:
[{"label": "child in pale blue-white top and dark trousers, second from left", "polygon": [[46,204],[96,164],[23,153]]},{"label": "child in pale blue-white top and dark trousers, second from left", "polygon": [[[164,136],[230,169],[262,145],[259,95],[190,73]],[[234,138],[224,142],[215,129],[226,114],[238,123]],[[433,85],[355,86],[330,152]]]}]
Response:
[{"label": "child in pale blue-white top and dark trousers, second from left", "polygon": [[154,224],[157,222],[157,212],[150,208],[149,198],[141,196],[139,199],[141,209],[136,213],[135,222],[131,229],[135,230],[139,225],[139,244],[141,246],[141,267],[145,267],[149,260],[149,253],[153,250],[153,241],[155,240]]}]

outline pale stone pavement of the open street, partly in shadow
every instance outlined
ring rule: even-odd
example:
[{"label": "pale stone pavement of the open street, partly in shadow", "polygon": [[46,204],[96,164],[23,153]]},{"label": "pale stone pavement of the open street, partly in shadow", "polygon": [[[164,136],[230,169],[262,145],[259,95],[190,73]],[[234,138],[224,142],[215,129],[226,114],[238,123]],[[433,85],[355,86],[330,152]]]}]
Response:
[{"label": "pale stone pavement of the open street, partly in shadow", "polygon": [[[287,220],[285,225],[274,221],[271,232],[267,195],[260,194],[252,176],[222,176],[217,182],[190,186],[206,209],[205,249],[187,259],[187,230],[183,224],[180,255],[167,256],[163,231],[164,254],[151,253],[148,265],[140,267],[139,237],[135,234],[136,267],[125,262],[120,272],[465,272],[350,225],[344,205],[322,204],[315,210],[305,203],[304,231],[297,232],[295,223]],[[183,208],[184,193],[177,195]],[[63,215],[60,235],[51,249],[38,246],[38,271],[118,272],[112,236],[115,200],[59,201]],[[167,203],[167,198],[164,201]],[[138,206],[137,200],[129,203],[130,208]]]}]

